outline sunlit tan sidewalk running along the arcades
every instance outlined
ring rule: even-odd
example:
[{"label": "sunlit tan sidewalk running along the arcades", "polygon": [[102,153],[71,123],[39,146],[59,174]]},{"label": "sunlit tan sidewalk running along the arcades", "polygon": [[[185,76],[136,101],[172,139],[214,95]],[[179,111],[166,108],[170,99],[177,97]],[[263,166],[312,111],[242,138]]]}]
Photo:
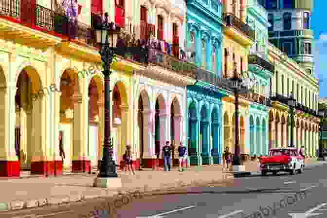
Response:
[{"label": "sunlit tan sidewalk running along the arcades", "polygon": [[[97,173],[97,172],[96,172]],[[184,172],[178,167],[171,172],[144,169],[136,175],[118,171],[123,187],[119,190],[92,187],[97,174],[74,173],[60,177],[29,177],[0,180],[0,211],[19,210],[43,205],[75,202],[82,199],[110,197],[120,191],[154,191],[194,185],[197,183],[218,183],[232,180],[233,175],[223,172],[221,165],[191,166]]]}]

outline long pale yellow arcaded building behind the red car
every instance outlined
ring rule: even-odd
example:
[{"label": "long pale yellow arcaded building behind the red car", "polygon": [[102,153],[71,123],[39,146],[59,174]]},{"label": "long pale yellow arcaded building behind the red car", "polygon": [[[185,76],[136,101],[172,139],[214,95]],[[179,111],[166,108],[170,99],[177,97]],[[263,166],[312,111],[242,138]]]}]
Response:
[{"label": "long pale yellow arcaded building behind the red car", "polygon": [[[270,147],[304,146],[307,156],[315,156],[319,140],[319,83],[314,73],[305,71],[293,59],[269,44],[269,59],[275,65],[271,81],[273,109],[269,113]],[[291,127],[288,98],[296,100],[295,122]],[[291,142],[293,131],[293,142]]]}]

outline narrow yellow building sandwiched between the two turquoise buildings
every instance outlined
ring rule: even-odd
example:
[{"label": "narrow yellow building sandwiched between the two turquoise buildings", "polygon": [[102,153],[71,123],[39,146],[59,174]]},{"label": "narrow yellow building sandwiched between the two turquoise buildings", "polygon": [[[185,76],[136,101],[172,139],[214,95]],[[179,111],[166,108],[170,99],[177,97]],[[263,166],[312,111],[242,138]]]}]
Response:
[{"label": "narrow yellow building sandwiched between the two turquoise buildings", "polygon": [[[254,43],[254,31],[246,24],[247,1],[223,0],[223,59],[222,75],[230,78],[236,71],[239,76],[248,70],[249,49]],[[223,98],[224,117],[224,145],[234,152],[235,144],[235,104],[234,96]],[[249,135],[249,101],[240,97],[239,128],[241,154],[245,158],[249,155],[246,140]]]}]

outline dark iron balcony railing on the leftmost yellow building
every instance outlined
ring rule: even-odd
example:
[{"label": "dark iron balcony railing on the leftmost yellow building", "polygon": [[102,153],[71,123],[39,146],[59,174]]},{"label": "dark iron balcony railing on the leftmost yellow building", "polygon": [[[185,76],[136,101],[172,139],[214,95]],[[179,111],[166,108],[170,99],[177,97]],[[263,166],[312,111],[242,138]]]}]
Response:
[{"label": "dark iron balcony railing on the leftmost yellow building", "polygon": [[0,0],[0,14],[40,31],[54,32],[93,45],[94,34],[90,26],[41,5],[26,4],[21,0]]}]

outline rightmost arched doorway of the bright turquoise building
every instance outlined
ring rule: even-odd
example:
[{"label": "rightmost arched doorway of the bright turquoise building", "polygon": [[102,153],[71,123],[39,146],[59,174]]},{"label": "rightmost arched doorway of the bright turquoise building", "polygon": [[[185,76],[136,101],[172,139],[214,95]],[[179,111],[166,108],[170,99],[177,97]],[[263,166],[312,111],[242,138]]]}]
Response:
[{"label": "rightmost arched doorway of the bright turquoise building", "polygon": [[220,164],[219,153],[220,153],[220,123],[219,123],[219,113],[217,107],[214,107],[211,113],[211,137],[212,137],[212,155],[213,163]]}]

